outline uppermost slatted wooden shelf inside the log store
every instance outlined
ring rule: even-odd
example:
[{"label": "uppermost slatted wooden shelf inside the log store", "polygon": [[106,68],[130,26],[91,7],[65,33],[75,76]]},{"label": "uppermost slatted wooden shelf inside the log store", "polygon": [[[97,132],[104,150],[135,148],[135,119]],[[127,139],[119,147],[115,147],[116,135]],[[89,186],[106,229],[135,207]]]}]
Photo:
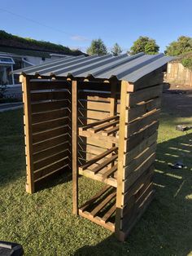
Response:
[{"label": "uppermost slatted wooden shelf inside the log store", "polygon": [[93,123],[79,127],[79,135],[84,137],[92,137],[103,139],[112,143],[117,143],[116,134],[119,131],[119,116],[107,117],[106,119],[94,121]]}]

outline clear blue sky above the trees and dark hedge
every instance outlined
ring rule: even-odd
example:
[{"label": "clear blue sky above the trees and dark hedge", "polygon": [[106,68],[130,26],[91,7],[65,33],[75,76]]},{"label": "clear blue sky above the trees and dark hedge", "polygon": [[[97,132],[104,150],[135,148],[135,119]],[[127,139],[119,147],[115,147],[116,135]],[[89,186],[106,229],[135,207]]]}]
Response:
[{"label": "clear blue sky above the trees and dark hedge", "polygon": [[94,38],[109,51],[115,42],[127,51],[142,35],[164,51],[178,36],[192,37],[191,10],[191,0],[7,0],[0,1],[0,29],[82,51]]}]

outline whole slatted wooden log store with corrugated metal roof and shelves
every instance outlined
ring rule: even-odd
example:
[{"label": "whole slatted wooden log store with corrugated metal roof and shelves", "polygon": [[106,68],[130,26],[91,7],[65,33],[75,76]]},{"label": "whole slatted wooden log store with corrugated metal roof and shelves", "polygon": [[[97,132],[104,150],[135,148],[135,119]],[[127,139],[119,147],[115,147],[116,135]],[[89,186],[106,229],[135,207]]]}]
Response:
[{"label": "whole slatted wooden log store with corrugated metal roof and shelves", "polygon": [[[163,54],[68,56],[23,68],[27,192],[72,171],[73,213],[124,241],[154,196]],[[79,205],[78,179],[103,188]]]}]

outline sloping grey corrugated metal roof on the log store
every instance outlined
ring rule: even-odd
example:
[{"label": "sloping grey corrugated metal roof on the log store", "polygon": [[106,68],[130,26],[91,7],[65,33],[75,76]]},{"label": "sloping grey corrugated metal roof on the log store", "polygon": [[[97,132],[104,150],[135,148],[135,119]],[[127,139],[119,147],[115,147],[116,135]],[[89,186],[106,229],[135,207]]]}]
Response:
[{"label": "sloping grey corrugated metal roof on the log store", "polygon": [[15,70],[13,73],[39,76],[58,77],[89,77],[110,79],[116,77],[118,80],[136,82],[139,78],[151,73],[157,68],[164,66],[172,57],[164,54],[145,55],[138,53],[129,56],[104,55],[77,57],[66,57],[33,67]]}]

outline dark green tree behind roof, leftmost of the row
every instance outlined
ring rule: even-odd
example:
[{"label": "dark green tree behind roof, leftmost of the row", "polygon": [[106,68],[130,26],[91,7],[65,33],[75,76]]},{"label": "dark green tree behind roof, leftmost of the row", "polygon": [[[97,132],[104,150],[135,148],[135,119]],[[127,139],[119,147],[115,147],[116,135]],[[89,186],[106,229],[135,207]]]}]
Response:
[{"label": "dark green tree behind roof, leftmost of the row", "polygon": [[107,47],[105,46],[102,39],[94,39],[91,45],[87,49],[89,55],[107,55]]}]

